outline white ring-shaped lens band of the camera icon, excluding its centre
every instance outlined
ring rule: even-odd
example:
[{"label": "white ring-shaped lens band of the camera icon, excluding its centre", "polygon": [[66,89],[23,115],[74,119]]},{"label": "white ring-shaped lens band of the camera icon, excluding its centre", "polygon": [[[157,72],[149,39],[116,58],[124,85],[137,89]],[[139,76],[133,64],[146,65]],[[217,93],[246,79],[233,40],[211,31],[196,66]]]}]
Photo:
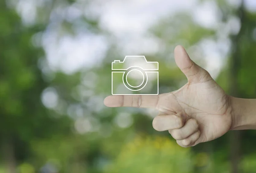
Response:
[{"label": "white ring-shaped lens band of the camera icon, excluding its centre", "polygon": [[[129,82],[128,82],[128,79],[127,79],[128,74],[132,71],[139,71],[143,75],[143,81],[138,86],[133,86],[133,85],[129,84]],[[130,67],[123,74],[123,83],[124,83],[125,87],[131,91],[140,91],[141,89],[143,89],[146,86],[147,82],[148,82],[148,75],[140,67]]]}]

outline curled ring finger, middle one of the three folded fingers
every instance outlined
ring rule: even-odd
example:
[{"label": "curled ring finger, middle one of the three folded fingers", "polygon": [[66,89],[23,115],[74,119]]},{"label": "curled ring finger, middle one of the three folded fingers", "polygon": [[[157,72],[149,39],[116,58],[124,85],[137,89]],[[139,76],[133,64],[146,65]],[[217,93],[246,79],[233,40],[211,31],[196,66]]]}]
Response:
[{"label": "curled ring finger, middle one of the three folded fingers", "polygon": [[185,125],[179,129],[169,130],[169,133],[176,140],[186,139],[198,130],[199,126],[195,119],[189,119]]}]

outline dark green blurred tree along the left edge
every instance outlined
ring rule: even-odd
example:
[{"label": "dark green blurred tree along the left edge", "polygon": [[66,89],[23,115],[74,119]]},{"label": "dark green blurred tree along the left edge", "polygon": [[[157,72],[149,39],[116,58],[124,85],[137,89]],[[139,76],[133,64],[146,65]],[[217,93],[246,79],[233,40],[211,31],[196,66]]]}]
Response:
[{"label": "dark green blurred tree along the left edge", "polygon": [[31,39],[42,30],[42,25],[24,27],[16,12],[0,2],[0,147],[7,173],[31,159],[31,140],[70,132],[69,118],[52,116],[41,103],[49,85],[38,68],[44,51]]}]

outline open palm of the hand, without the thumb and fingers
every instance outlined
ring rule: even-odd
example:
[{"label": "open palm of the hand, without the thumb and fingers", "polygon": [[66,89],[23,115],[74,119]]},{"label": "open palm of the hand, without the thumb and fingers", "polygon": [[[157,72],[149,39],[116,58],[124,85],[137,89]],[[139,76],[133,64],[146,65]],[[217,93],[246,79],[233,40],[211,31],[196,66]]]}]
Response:
[{"label": "open palm of the hand, without the thumb and fingers", "polygon": [[[161,112],[184,112],[198,121],[201,142],[216,139],[231,127],[228,97],[213,79],[190,85],[187,83],[180,90],[164,95],[161,100]],[[168,108],[168,105],[172,107]]]}]

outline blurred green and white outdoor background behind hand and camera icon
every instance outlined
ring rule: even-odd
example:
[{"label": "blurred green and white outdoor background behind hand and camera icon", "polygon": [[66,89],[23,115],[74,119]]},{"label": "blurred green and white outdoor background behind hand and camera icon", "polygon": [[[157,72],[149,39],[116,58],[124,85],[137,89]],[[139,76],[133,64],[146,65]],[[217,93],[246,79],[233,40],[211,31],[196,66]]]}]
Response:
[{"label": "blurred green and white outdoor background behind hand and camera icon", "polygon": [[160,93],[184,85],[178,44],[256,98],[255,0],[0,0],[0,173],[255,173],[255,130],[182,148],[154,110],[103,105],[125,55],[159,62]]}]

